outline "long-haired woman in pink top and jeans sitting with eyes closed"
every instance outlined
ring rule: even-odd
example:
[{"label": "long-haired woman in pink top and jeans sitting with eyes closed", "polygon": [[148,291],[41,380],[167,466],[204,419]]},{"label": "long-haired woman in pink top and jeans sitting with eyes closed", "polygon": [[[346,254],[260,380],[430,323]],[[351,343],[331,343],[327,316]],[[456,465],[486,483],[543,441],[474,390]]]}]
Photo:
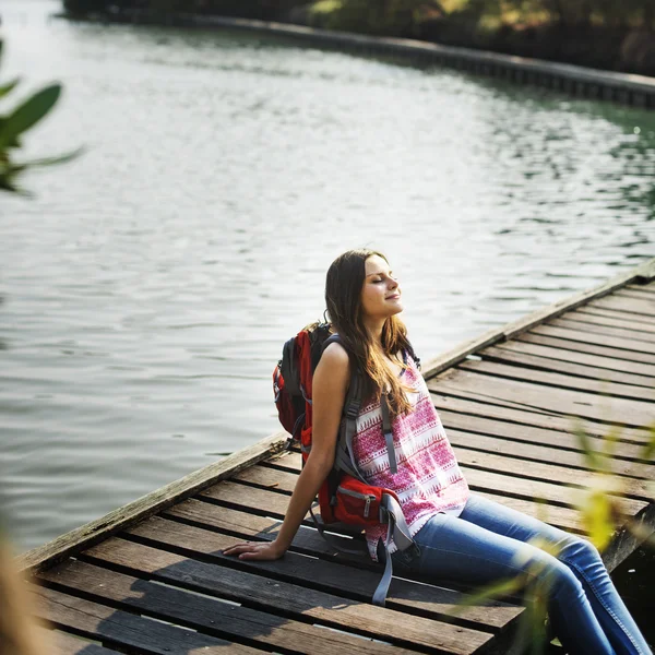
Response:
[{"label": "long-haired woman in pink top and jeans sitting with eyes closed", "polygon": [[[547,588],[553,630],[565,650],[588,655],[650,655],[597,550],[486,498],[469,493],[428,390],[408,355],[401,287],[386,258],[352,250],[327,271],[325,301],[340,343],[324,350],[313,377],[312,450],[271,543],[225,551],[240,559],[277,559],[289,548],[332,468],[350,367],[364,371],[365,401],[354,452],[372,485],[398,495],[417,548],[390,552],[396,568],[426,580],[486,584],[521,576]],[[345,346],[345,347],[344,347]],[[348,355],[349,353],[349,355]],[[397,472],[391,473],[381,428],[380,390],[389,392]],[[372,559],[383,528],[367,529]],[[540,541],[550,555],[532,543]]]}]

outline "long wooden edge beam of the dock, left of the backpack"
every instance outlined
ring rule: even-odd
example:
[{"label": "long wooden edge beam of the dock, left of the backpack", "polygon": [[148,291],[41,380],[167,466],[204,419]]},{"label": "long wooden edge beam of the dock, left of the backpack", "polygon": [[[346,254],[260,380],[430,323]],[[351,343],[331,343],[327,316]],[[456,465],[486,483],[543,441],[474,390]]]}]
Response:
[{"label": "long wooden edge beam of the dock, left of the backpack", "polygon": [[44,546],[34,548],[17,558],[19,569],[36,572],[50,567],[92,544],[106,539],[126,526],[155,514],[163,508],[193,496],[198,491],[234,475],[236,472],[250,466],[254,462],[270,457],[284,448],[286,439],[286,432],[276,432],[249,448],[225,457],[225,460],[194,471],[179,480],[114,510],[102,519],[92,521],[86,525],[57,537]]}]

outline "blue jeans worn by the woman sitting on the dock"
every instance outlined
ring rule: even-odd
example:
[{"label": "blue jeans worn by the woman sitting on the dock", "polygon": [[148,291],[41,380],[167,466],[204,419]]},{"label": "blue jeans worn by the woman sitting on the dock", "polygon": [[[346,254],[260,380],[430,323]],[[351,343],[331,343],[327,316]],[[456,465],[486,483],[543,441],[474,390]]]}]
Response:
[{"label": "blue jeans worn by the woman sitting on the dock", "polygon": [[[552,544],[557,556],[527,541]],[[652,655],[592,544],[471,495],[460,516],[437,514],[416,534],[416,551],[394,552],[394,570],[426,581],[487,584],[517,574],[548,581],[548,614],[570,655]]]}]

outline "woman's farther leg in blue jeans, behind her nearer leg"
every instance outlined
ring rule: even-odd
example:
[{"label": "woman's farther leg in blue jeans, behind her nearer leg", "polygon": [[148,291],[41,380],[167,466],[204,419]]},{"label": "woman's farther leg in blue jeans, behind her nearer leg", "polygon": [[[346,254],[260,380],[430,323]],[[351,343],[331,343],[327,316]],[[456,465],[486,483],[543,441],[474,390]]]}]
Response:
[{"label": "woman's farther leg in blue jeans, behind her nearer leg", "polygon": [[[598,551],[586,539],[477,495],[471,496],[460,517],[520,541],[541,538],[552,544],[557,559],[567,564],[582,583],[592,609],[617,653],[651,654]],[[558,617],[552,618],[556,623],[561,622]]]}]

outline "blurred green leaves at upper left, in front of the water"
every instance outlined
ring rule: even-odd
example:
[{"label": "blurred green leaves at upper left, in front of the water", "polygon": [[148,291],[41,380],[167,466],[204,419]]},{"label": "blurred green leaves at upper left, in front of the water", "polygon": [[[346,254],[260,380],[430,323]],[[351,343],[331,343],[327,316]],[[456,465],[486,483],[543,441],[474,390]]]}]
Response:
[{"label": "blurred green leaves at upper left, in front of the water", "polygon": [[[0,61],[2,41],[0,40]],[[4,98],[16,88],[20,80],[12,80],[0,85],[0,98]],[[69,162],[81,151],[57,157],[17,163],[13,159],[14,151],[22,145],[21,139],[25,132],[40,122],[55,107],[61,95],[61,84],[51,84],[23,100],[17,107],[5,115],[0,115],[0,191],[25,193],[17,186],[17,178],[29,168],[51,166]]]}]

